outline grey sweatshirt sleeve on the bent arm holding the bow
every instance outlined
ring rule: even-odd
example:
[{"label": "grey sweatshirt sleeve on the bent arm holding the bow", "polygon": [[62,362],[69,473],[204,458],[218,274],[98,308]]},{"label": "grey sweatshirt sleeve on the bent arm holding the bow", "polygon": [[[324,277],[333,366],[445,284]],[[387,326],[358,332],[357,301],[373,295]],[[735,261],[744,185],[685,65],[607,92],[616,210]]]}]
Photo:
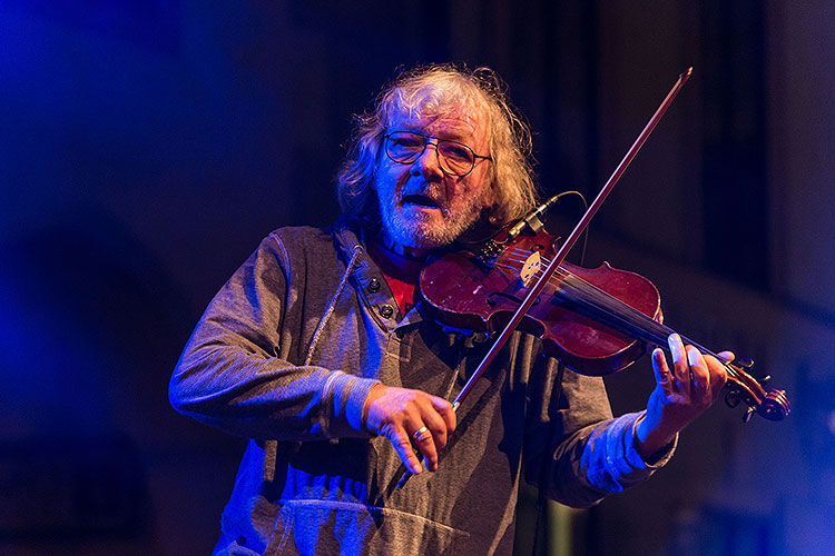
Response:
[{"label": "grey sweatshirt sleeve on the bent arm holding the bow", "polygon": [[[171,405],[222,430],[255,439],[367,437],[362,407],[376,380],[279,357],[291,262],[265,238],[215,296],[174,370]],[[332,292],[333,294],[333,292]]]}]

